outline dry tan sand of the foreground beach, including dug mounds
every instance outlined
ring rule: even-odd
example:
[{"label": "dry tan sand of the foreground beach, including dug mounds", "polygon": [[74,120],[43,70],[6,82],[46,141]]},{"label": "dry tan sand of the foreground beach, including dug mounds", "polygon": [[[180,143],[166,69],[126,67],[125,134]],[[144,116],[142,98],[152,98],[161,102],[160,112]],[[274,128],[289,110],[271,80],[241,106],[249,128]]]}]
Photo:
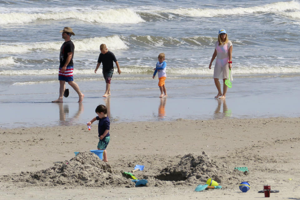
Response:
[{"label": "dry tan sand of the foreground beach, including dug mounds", "polygon": [[[97,124],[0,129],[0,199],[300,199],[300,118],[111,124],[108,163],[88,151]],[[81,153],[75,157],[73,152]],[[203,153],[204,152],[204,153]],[[68,164],[67,164],[68,163]],[[130,172],[147,179],[134,187]],[[234,171],[247,167],[249,173]],[[208,178],[222,189],[194,192]],[[250,184],[242,193],[238,185]]]}]

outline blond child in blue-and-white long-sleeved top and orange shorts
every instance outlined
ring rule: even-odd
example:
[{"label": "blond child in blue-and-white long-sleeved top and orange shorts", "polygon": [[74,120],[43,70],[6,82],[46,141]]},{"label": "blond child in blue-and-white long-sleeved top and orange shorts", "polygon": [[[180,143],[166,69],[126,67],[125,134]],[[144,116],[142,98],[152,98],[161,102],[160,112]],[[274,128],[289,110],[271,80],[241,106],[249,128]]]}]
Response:
[{"label": "blond child in blue-and-white long-sleeved top and orange shorts", "polygon": [[168,97],[167,90],[165,87],[165,80],[167,77],[167,74],[166,74],[167,63],[164,60],[165,60],[165,54],[160,53],[158,55],[158,62],[156,63],[156,68],[154,68],[154,74],[152,77],[154,79],[156,73],[158,72],[158,80],[159,80],[158,87],[160,89],[160,96],[159,96],[160,98]]}]

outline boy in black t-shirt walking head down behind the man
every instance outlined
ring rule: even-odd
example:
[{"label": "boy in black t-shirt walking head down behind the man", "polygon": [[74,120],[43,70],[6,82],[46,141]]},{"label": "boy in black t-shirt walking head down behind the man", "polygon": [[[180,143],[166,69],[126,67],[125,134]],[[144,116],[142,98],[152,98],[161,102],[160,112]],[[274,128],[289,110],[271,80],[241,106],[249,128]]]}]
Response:
[{"label": "boy in black t-shirt walking head down behind the man", "polygon": [[112,52],[107,50],[107,47],[105,44],[100,45],[100,51],[101,51],[101,53],[98,58],[98,63],[97,63],[96,69],[95,69],[95,73],[97,73],[97,70],[102,62],[102,66],[103,66],[102,73],[103,73],[103,77],[106,82],[106,90],[105,90],[103,97],[108,97],[108,96],[110,96],[110,81],[113,76],[113,62],[116,63],[119,74],[121,73],[121,70],[120,70],[117,58],[115,57],[115,55]]}]

